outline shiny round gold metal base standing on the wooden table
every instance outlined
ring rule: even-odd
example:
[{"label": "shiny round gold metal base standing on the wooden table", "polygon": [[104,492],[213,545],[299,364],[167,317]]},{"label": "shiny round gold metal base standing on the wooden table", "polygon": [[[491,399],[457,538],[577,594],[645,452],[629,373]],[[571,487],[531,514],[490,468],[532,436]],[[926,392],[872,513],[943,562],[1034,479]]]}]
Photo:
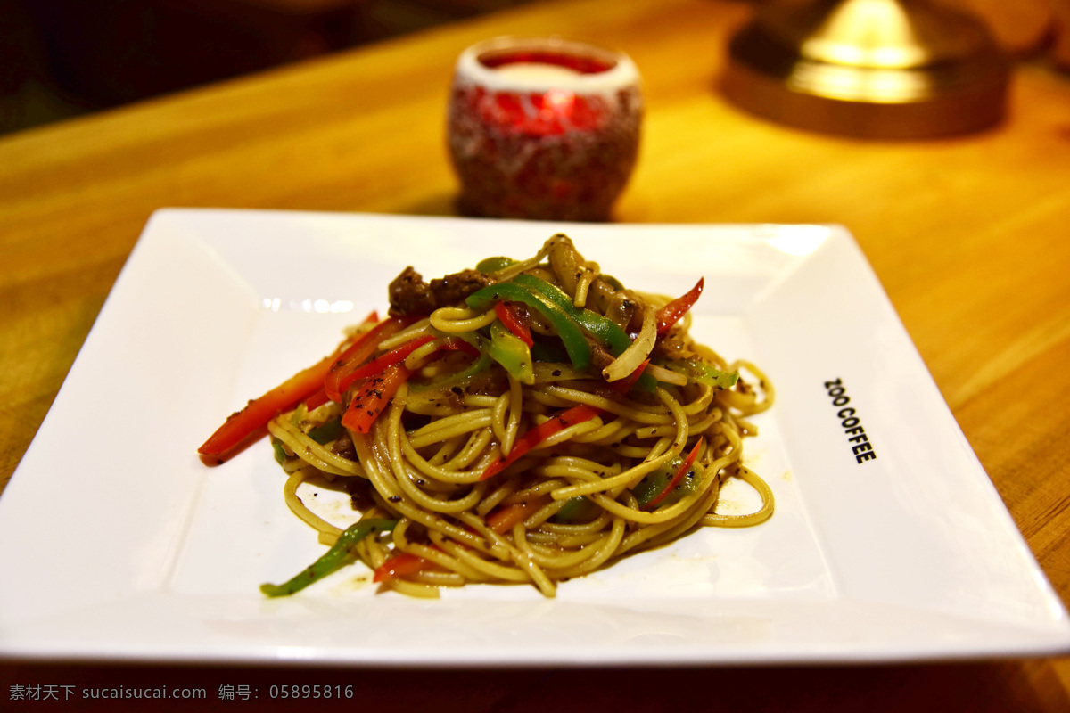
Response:
[{"label": "shiny round gold metal base standing on the wooden table", "polygon": [[983,25],[923,0],[765,0],[721,89],[793,126],[910,139],[998,123],[1009,72]]}]

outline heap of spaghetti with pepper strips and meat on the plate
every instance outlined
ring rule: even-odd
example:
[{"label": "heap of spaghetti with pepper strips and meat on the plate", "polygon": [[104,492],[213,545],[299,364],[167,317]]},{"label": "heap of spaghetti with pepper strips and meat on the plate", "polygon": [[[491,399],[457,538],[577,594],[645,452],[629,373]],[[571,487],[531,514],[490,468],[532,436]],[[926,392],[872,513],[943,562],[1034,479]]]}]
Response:
[{"label": "heap of spaghetti with pepper strips and meat on the plate", "polygon": [[[286,501],[336,559],[410,595],[514,583],[553,596],[560,582],[694,528],[771,514],[768,485],[743,464],[755,434],[746,418],[769,407],[771,386],[690,338],[690,304],[624,288],[560,234],[529,260],[490,259],[430,285],[407,273],[391,285],[391,316],[346,342],[393,320],[362,361],[374,375],[269,423]],[[563,314],[581,331],[565,334]],[[377,397],[392,359],[401,383]],[[336,377],[362,366],[342,361]],[[362,393],[377,405],[354,415]],[[758,491],[758,512],[715,513],[728,478]],[[302,502],[305,481],[352,496],[365,523],[354,542]]]}]

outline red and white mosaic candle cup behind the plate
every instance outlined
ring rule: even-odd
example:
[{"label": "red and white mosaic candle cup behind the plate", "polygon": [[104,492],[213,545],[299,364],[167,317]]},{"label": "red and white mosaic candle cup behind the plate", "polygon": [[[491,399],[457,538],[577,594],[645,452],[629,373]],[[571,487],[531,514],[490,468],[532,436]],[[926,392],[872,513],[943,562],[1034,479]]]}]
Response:
[{"label": "red and white mosaic candle cup behind the plate", "polygon": [[449,151],[467,215],[608,220],[636,165],[639,72],[623,52],[499,37],[457,60]]}]

